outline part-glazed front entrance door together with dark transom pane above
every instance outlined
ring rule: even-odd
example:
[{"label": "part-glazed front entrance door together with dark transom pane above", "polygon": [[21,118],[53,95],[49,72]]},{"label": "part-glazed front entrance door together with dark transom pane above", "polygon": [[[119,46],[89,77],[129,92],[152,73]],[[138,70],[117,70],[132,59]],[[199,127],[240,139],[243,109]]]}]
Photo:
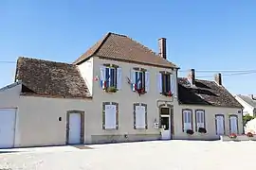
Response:
[{"label": "part-glazed front entrance door together with dark transom pane above", "polygon": [[170,108],[161,108],[160,110],[161,118],[161,137],[162,140],[171,139],[171,118],[170,118]]}]

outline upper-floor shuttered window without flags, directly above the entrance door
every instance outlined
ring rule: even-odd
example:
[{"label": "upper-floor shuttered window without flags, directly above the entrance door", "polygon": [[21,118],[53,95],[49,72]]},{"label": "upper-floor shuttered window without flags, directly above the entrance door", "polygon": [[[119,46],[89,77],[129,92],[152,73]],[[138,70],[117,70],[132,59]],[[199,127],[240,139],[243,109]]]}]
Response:
[{"label": "upper-floor shuttered window without flags, directly above the entrance door", "polygon": [[158,91],[159,93],[174,93],[173,75],[161,72],[158,74]]}]

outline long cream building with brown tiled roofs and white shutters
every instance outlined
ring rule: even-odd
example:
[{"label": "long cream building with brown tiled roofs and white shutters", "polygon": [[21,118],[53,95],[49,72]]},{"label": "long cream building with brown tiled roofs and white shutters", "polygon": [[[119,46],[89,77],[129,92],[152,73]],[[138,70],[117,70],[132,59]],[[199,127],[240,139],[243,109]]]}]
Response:
[{"label": "long cream building with brown tiled roofs and white shutters", "polygon": [[[0,91],[0,147],[218,139],[229,125],[242,133],[241,106],[226,105],[224,100],[234,98],[225,96],[223,86],[211,83],[225,92],[217,101],[225,106],[186,103],[184,93],[193,85],[186,89],[177,82],[179,68],[166,59],[166,39],[158,45],[155,54],[108,33],[72,64],[19,58],[15,82]],[[199,110],[206,134],[196,131],[203,125],[194,118]],[[187,134],[190,128],[193,135]]]}]

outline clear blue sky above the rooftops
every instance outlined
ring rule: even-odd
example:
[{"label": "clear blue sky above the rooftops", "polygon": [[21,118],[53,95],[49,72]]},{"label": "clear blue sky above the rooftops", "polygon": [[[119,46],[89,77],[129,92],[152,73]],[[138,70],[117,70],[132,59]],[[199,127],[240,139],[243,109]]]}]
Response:
[{"label": "clear blue sky above the rooftops", "polygon": [[[72,62],[111,31],[154,51],[157,39],[166,37],[168,59],[183,71],[256,70],[255,7],[255,0],[2,0],[0,61],[27,56]],[[14,73],[15,63],[0,62],[0,87],[13,82]],[[223,81],[231,93],[256,93],[255,77]]]}]

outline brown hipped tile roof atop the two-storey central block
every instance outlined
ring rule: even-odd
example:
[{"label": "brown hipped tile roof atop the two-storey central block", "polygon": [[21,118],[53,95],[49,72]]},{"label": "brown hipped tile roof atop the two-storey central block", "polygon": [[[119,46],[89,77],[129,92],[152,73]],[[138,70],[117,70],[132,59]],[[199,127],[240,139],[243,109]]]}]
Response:
[{"label": "brown hipped tile roof atop the two-storey central block", "polygon": [[176,68],[174,63],[162,59],[151,49],[131,38],[115,33],[108,33],[99,42],[94,44],[74,63],[78,64],[92,56],[106,59],[117,59],[123,61],[143,63],[159,67]]}]

